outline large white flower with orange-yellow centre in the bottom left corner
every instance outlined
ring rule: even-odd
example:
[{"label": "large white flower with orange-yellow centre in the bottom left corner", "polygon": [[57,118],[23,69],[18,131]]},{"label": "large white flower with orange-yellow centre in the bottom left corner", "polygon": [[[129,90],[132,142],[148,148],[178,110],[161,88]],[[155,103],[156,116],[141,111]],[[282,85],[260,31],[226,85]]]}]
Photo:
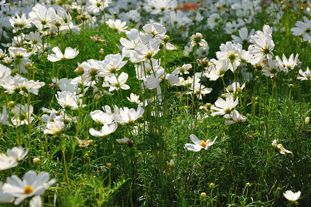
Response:
[{"label": "large white flower with orange-yellow centre in the bottom left corner", "polygon": [[23,181],[17,175],[12,175],[8,177],[7,183],[2,187],[3,193],[16,197],[14,205],[18,205],[28,197],[43,195],[45,190],[56,181],[55,179],[49,181],[49,179],[49,173],[40,172],[39,175],[36,175],[36,172],[32,170],[25,173]]}]

